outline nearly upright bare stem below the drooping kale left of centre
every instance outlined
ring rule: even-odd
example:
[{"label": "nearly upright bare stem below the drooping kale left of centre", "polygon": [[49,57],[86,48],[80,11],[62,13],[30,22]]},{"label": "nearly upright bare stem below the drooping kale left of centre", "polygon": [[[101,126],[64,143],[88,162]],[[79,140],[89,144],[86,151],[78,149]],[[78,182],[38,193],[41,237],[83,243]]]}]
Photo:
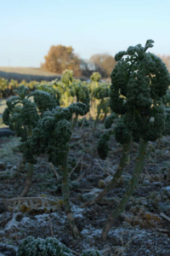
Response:
[{"label": "nearly upright bare stem below the drooping kale left of centre", "polygon": [[64,202],[64,207],[65,207],[65,213],[68,218],[68,222],[70,224],[71,230],[73,232],[73,235],[75,238],[79,236],[78,230],[77,230],[77,225],[75,224],[73,214],[71,212],[71,203],[69,200],[69,195],[70,195],[70,188],[69,188],[69,172],[68,172],[68,152],[69,149],[67,150],[67,153],[65,154],[65,160],[63,161],[62,165],[62,176],[63,176],[63,202]]}]

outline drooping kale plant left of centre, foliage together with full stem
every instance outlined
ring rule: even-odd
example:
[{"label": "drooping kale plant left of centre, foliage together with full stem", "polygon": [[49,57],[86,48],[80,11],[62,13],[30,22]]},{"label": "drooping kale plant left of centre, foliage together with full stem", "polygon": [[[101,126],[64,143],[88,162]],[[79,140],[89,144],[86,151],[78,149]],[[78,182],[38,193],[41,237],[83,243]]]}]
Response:
[{"label": "drooping kale plant left of centre, foliage together with full stem", "polygon": [[62,166],[65,213],[75,237],[78,236],[78,230],[71,212],[68,172],[71,118],[73,113],[84,115],[86,112],[87,107],[81,102],[73,103],[68,108],[58,106],[52,111],[47,111],[43,113],[42,119],[39,119],[37,127],[32,131],[32,136],[24,143],[24,156],[29,162],[36,161],[34,155],[48,154],[48,160],[54,166]]}]

